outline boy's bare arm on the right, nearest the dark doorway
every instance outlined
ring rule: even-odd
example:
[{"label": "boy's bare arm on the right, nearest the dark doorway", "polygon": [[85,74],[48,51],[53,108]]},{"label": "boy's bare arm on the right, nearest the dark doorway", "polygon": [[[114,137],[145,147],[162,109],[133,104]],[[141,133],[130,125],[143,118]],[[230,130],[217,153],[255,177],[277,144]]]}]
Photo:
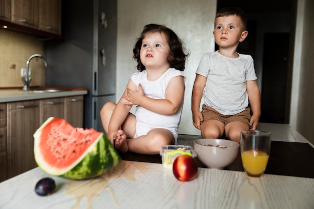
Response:
[{"label": "boy's bare arm on the right, nearest the dark doorway", "polygon": [[256,80],[246,81],[246,91],[249,97],[249,103],[253,113],[250,120],[250,126],[252,126],[252,130],[256,130],[256,128],[258,127],[258,121],[261,114],[261,96]]}]

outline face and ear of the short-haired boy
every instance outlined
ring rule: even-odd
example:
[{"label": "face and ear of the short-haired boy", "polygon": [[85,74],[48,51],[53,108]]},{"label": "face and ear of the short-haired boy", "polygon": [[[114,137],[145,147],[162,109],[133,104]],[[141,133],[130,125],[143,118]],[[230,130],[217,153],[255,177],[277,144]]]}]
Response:
[{"label": "face and ear of the short-haired boy", "polygon": [[247,36],[244,31],[241,19],[238,16],[218,17],[215,21],[215,30],[213,31],[215,42],[220,48],[229,48],[238,46]]}]

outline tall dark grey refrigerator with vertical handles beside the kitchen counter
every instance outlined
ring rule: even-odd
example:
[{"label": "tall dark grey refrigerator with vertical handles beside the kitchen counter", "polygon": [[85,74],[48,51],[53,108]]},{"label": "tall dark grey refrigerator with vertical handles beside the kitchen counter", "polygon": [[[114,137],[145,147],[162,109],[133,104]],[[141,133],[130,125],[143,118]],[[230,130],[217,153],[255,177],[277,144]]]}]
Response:
[{"label": "tall dark grey refrigerator with vertical handles beside the kitchen counter", "polygon": [[62,40],[44,41],[47,86],[86,88],[84,128],[104,132],[100,109],[115,102],[116,0],[62,1]]}]

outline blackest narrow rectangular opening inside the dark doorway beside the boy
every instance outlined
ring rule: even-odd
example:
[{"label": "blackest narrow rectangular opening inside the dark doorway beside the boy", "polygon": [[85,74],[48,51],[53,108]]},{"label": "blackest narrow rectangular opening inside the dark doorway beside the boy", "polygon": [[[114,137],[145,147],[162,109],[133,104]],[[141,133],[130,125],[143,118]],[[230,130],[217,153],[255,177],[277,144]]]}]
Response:
[{"label": "blackest narrow rectangular opening inside the dark doorway beside the boy", "polygon": [[287,123],[289,33],[264,35],[260,122]]}]

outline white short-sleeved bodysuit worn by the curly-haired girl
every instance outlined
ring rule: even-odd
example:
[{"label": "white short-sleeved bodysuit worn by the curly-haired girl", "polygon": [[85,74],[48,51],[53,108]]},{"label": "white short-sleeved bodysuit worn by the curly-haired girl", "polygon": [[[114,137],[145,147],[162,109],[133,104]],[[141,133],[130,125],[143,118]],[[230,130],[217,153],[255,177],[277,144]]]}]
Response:
[{"label": "white short-sleeved bodysuit worn by the curly-haired girl", "polygon": [[[184,73],[174,68],[169,68],[158,80],[148,81],[146,70],[144,70],[139,73],[134,73],[131,76],[131,80],[134,82],[137,88],[138,84],[142,85],[145,96],[153,99],[166,99],[166,89],[168,83],[176,76],[184,77]],[[186,78],[184,77],[184,82],[185,81]],[[135,111],[136,132],[134,138],[141,135],[146,135],[147,132],[153,128],[165,128],[173,133],[177,142],[178,126],[181,119],[182,107],[183,102],[176,114],[161,115],[137,105]]]}]

